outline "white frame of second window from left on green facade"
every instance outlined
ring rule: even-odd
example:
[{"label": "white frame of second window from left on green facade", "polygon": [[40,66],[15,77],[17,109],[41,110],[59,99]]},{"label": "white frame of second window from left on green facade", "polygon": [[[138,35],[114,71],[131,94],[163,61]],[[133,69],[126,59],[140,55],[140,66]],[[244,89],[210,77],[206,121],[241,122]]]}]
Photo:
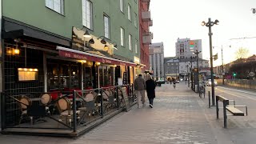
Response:
[{"label": "white frame of second window from left on green facade", "polygon": [[[90,3],[90,26],[87,25],[88,22],[88,18],[86,15],[84,14],[84,11],[87,11],[86,8],[84,8],[84,2],[89,2]],[[84,18],[86,17],[86,18]],[[85,22],[86,21],[86,22]],[[90,0],[82,0],[82,26],[86,26],[88,29],[93,30],[93,2],[91,2]]]}]

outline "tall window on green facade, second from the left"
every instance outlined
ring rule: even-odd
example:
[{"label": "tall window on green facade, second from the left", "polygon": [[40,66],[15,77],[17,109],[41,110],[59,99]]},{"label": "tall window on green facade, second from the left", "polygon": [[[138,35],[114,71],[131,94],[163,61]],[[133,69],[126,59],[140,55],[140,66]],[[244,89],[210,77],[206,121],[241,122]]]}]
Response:
[{"label": "tall window on green facade, second from the left", "polygon": [[82,0],[82,25],[92,29],[92,2]]}]

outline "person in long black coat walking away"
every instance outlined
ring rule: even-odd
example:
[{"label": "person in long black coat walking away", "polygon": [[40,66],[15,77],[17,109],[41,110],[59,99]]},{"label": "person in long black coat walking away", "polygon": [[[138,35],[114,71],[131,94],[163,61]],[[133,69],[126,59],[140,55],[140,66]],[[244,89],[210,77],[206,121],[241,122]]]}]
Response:
[{"label": "person in long black coat walking away", "polygon": [[150,107],[153,108],[153,101],[155,98],[155,83],[152,78],[146,81],[146,94],[150,101]]}]

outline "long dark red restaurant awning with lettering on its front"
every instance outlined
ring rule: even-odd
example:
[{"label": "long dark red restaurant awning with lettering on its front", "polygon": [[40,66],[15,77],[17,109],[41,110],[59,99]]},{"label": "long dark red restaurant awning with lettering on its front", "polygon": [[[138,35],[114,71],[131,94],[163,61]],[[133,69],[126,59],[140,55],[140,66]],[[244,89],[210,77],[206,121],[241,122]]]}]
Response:
[{"label": "long dark red restaurant awning with lettering on its front", "polygon": [[126,62],[115,58],[108,58],[97,54],[90,54],[79,50],[73,50],[62,46],[57,46],[58,54],[65,58],[75,58],[80,60],[88,60],[93,62],[108,63],[122,66],[136,66],[136,63]]}]

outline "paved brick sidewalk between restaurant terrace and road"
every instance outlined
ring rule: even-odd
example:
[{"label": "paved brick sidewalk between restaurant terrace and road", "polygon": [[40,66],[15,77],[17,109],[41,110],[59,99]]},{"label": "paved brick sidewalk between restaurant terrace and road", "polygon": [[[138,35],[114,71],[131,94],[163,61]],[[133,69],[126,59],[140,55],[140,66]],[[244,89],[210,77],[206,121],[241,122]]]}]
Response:
[{"label": "paved brick sidewalk between restaurant terrace and road", "polygon": [[[147,102],[147,101],[146,101]],[[1,143],[255,143],[256,130],[245,127],[223,128],[222,111],[216,120],[216,107],[208,108],[208,95],[199,98],[185,83],[156,89],[154,108],[133,106],[77,139],[0,135]],[[250,110],[250,109],[249,109]],[[250,114],[250,111],[249,111]],[[239,119],[241,117],[235,118]],[[229,119],[229,118],[228,118]],[[228,121],[229,122],[229,121]],[[248,130],[248,129],[246,129]],[[248,135],[243,135],[248,134]]]}]

